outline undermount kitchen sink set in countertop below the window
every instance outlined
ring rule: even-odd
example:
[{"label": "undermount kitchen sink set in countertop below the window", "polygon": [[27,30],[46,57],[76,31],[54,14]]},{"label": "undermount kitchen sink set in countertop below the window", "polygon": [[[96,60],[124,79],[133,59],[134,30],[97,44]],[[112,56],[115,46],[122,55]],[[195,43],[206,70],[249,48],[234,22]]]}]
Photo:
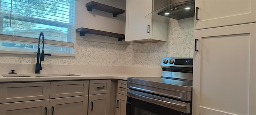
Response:
[{"label": "undermount kitchen sink set in countertop below the window", "polygon": [[71,73],[25,73],[25,74],[1,74],[3,77],[56,77],[56,76],[80,76]]}]

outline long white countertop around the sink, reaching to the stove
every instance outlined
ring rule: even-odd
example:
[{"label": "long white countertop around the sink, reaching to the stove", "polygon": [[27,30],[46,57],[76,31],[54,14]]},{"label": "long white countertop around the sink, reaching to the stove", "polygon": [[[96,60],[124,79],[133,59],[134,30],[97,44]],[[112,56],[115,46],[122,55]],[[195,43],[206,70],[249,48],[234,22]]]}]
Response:
[{"label": "long white countertop around the sink, reaching to the stove", "polygon": [[[15,68],[16,67],[16,68]],[[8,74],[15,70],[17,74]],[[128,66],[44,65],[34,73],[34,64],[1,63],[0,82],[57,81],[86,79],[122,79],[128,77],[160,77],[161,68]],[[74,75],[71,75],[74,74]],[[63,76],[61,76],[63,75]],[[78,76],[79,75],[79,76]],[[7,76],[7,77],[6,77]],[[14,76],[14,77],[11,77]],[[23,76],[23,77],[21,77]],[[28,77],[24,77],[28,76]]]}]

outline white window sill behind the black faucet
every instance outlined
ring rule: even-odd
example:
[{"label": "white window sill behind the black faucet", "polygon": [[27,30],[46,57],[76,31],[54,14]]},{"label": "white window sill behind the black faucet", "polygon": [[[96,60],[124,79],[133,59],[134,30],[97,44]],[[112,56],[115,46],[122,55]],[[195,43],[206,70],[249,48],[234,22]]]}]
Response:
[{"label": "white window sill behind the black faucet", "polygon": [[[16,52],[16,51],[2,51],[0,50],[0,57],[26,57],[37,58],[36,52]],[[45,53],[48,54],[48,53]],[[52,54],[52,56],[45,55],[45,58],[51,59],[74,59],[75,54]]]}]

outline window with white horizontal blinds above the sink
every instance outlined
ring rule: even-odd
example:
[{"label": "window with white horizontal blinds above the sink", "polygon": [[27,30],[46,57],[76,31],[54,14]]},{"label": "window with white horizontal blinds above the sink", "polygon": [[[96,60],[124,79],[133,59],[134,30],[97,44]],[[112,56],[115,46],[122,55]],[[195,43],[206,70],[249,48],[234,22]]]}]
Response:
[{"label": "window with white horizontal blinds above the sink", "polygon": [[0,0],[0,50],[37,52],[43,32],[44,52],[73,54],[74,15],[75,0]]}]

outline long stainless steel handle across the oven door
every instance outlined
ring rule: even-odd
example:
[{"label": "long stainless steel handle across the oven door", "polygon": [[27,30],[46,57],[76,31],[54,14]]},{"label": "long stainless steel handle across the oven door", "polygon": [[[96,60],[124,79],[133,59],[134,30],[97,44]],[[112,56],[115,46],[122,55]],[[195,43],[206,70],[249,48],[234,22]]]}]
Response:
[{"label": "long stainless steel handle across the oven door", "polygon": [[[136,93],[133,93],[133,92],[136,92]],[[140,94],[138,94],[138,93],[140,93]],[[160,104],[163,104],[163,105],[168,104],[169,106],[172,106],[172,107],[177,107],[177,108],[180,108],[180,109],[186,109],[186,105],[181,105],[181,104],[178,104],[178,103],[172,103],[172,102],[169,102],[169,101],[154,99],[154,98],[151,98],[152,96],[149,96],[151,94],[146,93],[146,95],[143,95],[142,92],[132,91],[130,89],[127,90],[127,94],[129,94],[133,97],[137,97],[139,99],[144,99],[144,100],[150,101],[150,102],[156,102],[156,103],[160,103]],[[159,97],[159,96],[154,95],[154,97]]]}]

